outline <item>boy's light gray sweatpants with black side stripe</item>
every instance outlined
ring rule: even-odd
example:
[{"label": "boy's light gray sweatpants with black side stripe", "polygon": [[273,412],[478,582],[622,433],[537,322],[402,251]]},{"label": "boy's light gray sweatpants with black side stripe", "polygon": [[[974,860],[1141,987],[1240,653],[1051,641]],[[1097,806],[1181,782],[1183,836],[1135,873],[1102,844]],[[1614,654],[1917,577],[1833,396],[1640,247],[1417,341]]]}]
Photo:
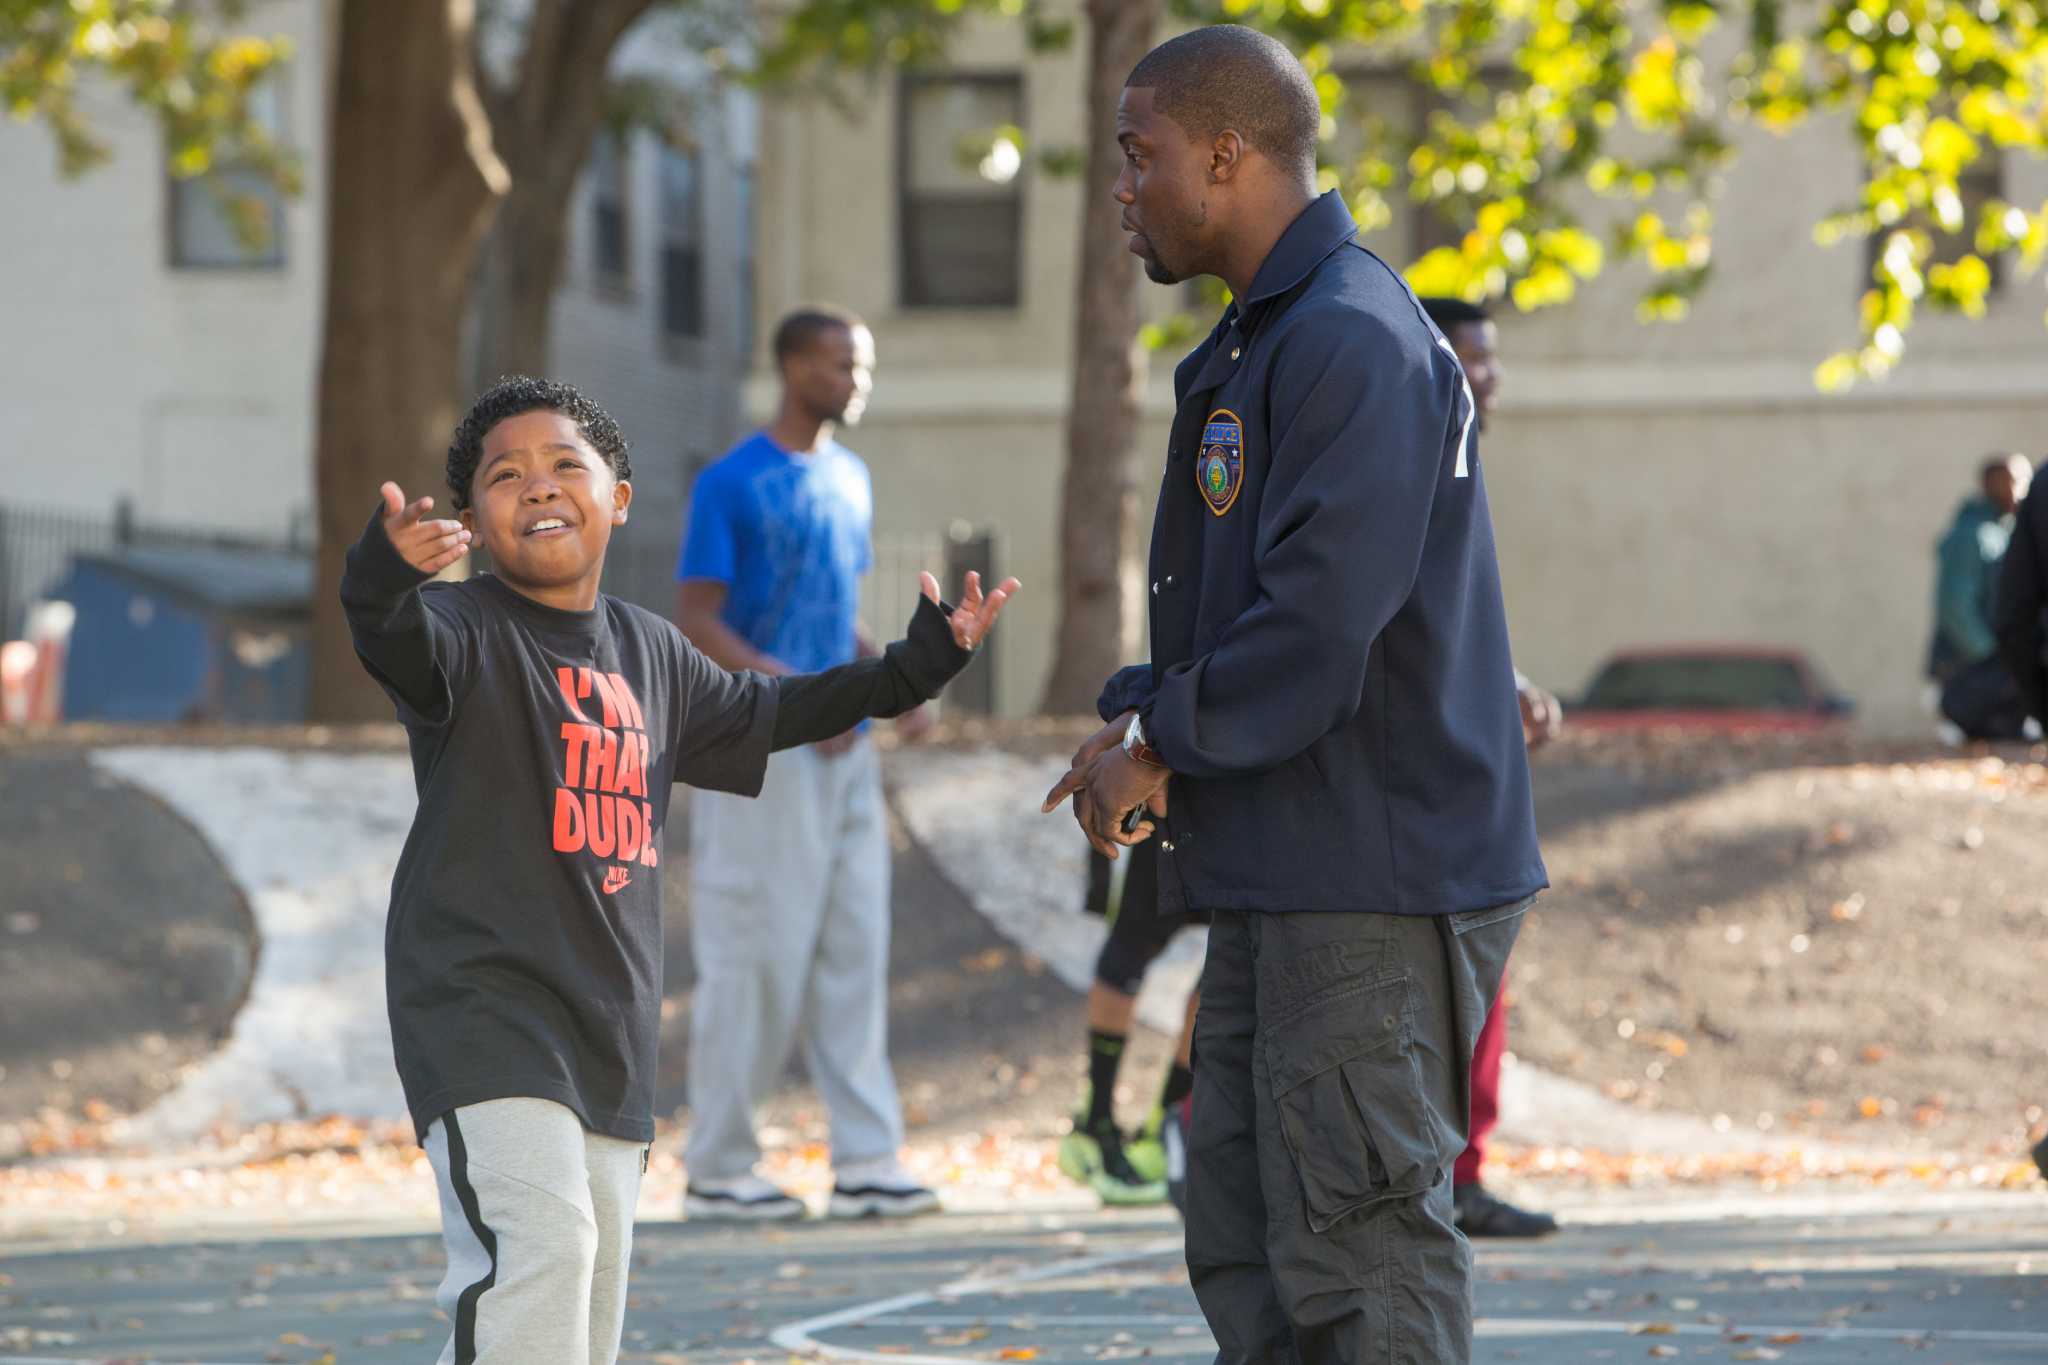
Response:
[{"label": "boy's light gray sweatpants with black side stripe", "polygon": [[455,1332],[440,1365],[612,1365],[647,1148],[551,1099],[492,1099],[426,1130]]}]

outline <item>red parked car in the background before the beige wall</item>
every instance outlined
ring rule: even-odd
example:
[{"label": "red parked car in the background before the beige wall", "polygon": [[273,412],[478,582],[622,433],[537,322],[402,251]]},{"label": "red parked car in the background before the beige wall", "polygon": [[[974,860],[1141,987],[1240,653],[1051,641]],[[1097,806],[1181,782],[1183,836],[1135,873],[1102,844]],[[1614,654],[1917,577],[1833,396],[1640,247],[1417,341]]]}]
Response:
[{"label": "red parked car in the background before the beige wall", "polygon": [[1593,673],[1569,722],[1587,731],[1829,731],[1855,702],[1796,649],[1673,645],[1624,649]]}]

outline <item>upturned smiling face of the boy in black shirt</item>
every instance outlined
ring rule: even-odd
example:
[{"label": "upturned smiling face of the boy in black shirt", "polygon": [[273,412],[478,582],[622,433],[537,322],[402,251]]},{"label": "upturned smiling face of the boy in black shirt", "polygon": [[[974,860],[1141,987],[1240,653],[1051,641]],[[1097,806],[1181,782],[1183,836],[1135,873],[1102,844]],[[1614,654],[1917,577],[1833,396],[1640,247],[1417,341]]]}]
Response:
[{"label": "upturned smiling face of the boy in black shirt", "polygon": [[590,610],[604,546],[631,503],[633,485],[612,477],[575,422],[535,409],[483,434],[463,524],[508,587],[547,606]]}]

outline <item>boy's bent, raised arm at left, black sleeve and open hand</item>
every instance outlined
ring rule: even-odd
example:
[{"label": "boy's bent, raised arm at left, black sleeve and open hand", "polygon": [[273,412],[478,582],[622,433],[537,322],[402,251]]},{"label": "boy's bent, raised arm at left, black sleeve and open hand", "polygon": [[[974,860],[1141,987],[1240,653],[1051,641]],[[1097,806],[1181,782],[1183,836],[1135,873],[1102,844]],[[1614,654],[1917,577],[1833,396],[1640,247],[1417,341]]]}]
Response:
[{"label": "boy's bent, raised arm at left, black sleeve and open hand", "polygon": [[362,538],[348,548],[342,612],[371,677],[422,720],[440,722],[449,718],[449,677],[461,645],[418,589],[469,553],[469,532],[461,522],[424,520],[432,497],[408,503],[395,483],[385,483],[381,495]]}]

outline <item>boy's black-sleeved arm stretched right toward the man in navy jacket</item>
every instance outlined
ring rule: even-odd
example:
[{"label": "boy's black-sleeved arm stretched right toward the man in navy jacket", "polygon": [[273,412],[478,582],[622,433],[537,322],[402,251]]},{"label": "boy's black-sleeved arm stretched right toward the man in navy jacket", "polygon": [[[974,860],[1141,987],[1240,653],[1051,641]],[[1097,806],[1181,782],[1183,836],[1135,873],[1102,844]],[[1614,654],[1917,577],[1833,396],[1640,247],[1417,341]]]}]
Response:
[{"label": "boy's black-sleeved arm stretched right toward the man in navy jacket", "polygon": [[938,696],[975,657],[1016,579],[983,596],[981,575],[969,573],[961,606],[938,600],[938,579],[920,575],[924,596],[909,630],[877,659],[856,659],[823,673],[793,673],[776,684],[774,749],[844,735],[868,718],[901,716]]}]

